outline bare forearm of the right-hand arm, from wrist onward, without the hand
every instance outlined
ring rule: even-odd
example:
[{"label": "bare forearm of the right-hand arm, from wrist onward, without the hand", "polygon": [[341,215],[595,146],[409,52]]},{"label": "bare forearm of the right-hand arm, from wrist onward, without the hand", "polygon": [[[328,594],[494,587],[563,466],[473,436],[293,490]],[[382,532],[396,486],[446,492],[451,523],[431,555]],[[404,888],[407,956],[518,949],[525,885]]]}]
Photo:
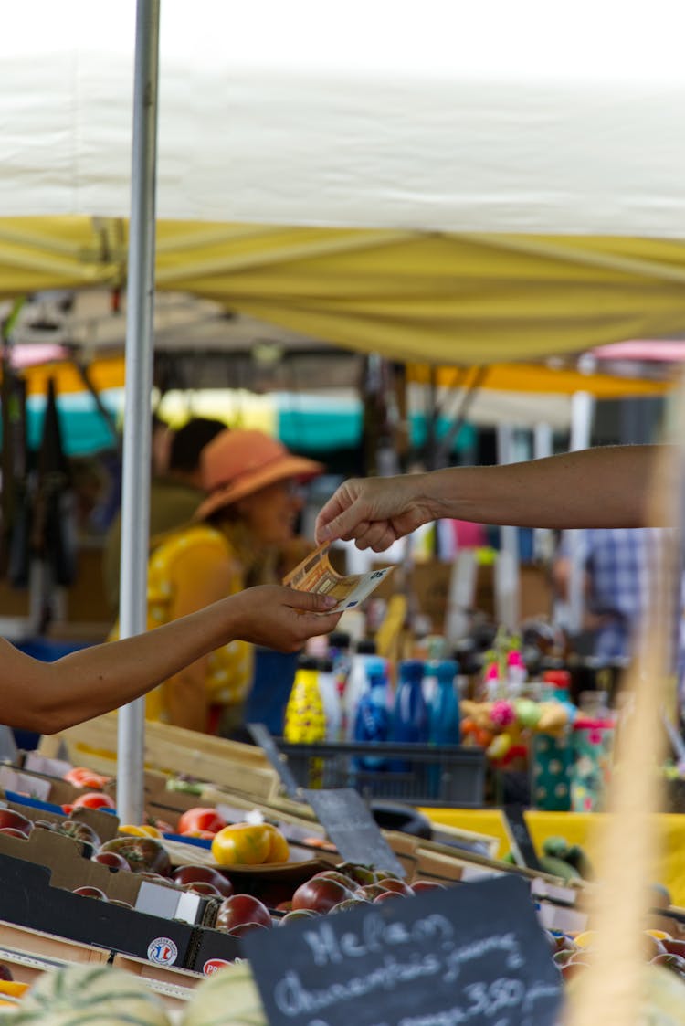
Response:
[{"label": "bare forearm of the right-hand arm, from wrist onward, without the hand", "polygon": [[601,446],[424,475],[436,519],[530,527],[639,527],[658,446]]}]

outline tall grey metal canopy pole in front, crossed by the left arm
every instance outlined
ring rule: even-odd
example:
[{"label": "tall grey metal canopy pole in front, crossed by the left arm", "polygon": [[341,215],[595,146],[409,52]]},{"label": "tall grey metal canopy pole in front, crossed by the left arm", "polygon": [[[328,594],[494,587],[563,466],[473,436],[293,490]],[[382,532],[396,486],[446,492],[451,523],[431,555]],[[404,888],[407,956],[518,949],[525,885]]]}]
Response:
[{"label": "tall grey metal canopy pole in front, crossed by the left arm", "polygon": [[[138,634],[147,627],[159,10],[159,0],[137,0],[126,315],[121,637]],[[117,808],[123,823],[143,822],[144,749],[145,699],[136,699],[119,712]]]}]

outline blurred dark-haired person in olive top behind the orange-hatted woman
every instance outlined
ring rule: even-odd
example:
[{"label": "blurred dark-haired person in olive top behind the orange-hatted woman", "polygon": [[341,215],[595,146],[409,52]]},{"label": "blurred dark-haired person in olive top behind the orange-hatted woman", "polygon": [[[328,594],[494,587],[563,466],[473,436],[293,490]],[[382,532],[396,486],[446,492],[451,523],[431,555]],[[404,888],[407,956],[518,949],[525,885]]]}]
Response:
[{"label": "blurred dark-haired person in olive top behind the orange-hatted woman", "polygon": [[[192,418],[173,432],[159,418],[157,424],[157,428],[153,425],[153,477],[150,482],[150,538],[153,541],[158,535],[192,519],[205,495],[200,453],[212,438],[227,430],[223,421],[205,417]],[[105,594],[113,617],[119,611],[120,575],[121,511],[106,535],[103,552]]]}]

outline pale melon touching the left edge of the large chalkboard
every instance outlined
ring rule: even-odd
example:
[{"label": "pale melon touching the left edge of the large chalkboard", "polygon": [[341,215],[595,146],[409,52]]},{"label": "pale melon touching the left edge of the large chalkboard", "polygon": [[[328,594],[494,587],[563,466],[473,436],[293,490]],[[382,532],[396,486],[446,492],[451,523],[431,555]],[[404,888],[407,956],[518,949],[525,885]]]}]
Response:
[{"label": "pale melon touching the left edge of the large chalkboard", "polygon": [[246,961],[224,965],[195,988],[182,1026],[268,1026]]}]

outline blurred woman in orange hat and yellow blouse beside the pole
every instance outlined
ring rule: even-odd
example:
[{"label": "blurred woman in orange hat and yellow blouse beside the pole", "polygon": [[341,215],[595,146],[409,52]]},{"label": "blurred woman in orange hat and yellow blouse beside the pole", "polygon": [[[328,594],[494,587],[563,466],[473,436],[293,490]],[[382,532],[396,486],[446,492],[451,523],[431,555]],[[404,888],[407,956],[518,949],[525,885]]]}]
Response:
[{"label": "blurred woman in orange hat and yellow blouse beside the pole", "polygon": [[[274,557],[292,539],[301,510],[297,485],[324,469],[261,431],[244,430],[212,439],[201,468],[206,499],[193,523],[157,540],[150,557],[149,630],[276,580]],[[242,723],[252,657],[252,645],[237,639],[202,657],[148,696],[148,718],[230,736]]]}]

